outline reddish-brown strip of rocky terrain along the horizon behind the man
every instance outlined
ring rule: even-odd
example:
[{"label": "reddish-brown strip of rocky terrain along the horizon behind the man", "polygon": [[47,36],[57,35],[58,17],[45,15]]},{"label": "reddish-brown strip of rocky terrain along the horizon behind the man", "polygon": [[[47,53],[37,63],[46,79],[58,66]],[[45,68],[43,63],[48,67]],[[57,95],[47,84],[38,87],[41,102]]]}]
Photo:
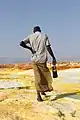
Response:
[{"label": "reddish-brown strip of rocky terrain along the horizon behind the man", "polygon": [[[47,64],[48,67],[51,67],[51,63]],[[19,64],[0,64],[0,68],[12,68],[19,70],[28,70],[32,69],[31,63],[19,63]],[[65,70],[71,68],[80,68],[80,62],[57,62],[57,70]]]}]

